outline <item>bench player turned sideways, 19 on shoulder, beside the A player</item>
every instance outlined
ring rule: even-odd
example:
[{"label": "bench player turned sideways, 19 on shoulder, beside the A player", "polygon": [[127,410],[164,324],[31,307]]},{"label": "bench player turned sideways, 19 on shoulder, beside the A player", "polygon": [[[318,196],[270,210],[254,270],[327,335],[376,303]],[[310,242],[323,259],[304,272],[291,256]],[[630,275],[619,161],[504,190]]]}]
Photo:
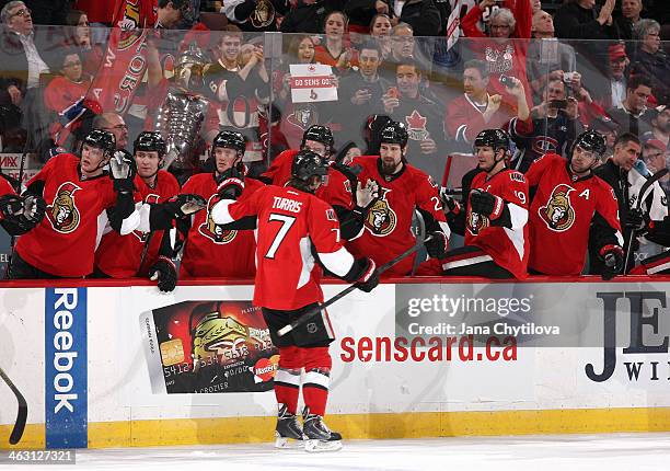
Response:
[{"label": "bench player turned sideways, 19 on shoulder, beside the A player", "polygon": [[[528,183],[509,170],[509,135],[485,129],[474,141],[477,169],[463,177],[465,210],[446,202],[447,220],[465,245],[447,254],[444,275],[518,278],[528,276]],[[470,185],[466,177],[475,173]],[[472,189],[471,189],[472,188]]]}]

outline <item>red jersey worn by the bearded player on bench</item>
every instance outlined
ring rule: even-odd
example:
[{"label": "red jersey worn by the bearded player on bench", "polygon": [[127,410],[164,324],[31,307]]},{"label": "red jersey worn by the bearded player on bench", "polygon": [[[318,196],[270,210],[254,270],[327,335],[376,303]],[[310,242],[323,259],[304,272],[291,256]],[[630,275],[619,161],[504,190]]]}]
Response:
[{"label": "red jersey worn by the bearded player on bench", "polygon": [[[380,198],[368,211],[361,232],[347,243],[354,256],[369,256],[377,266],[391,261],[414,245],[412,232],[414,208],[428,211],[443,222],[444,212],[438,196],[438,187],[429,175],[405,163],[400,173],[386,180],[379,169],[379,157],[363,156],[354,159],[354,165],[362,166],[359,182],[377,181]],[[448,229],[444,234],[449,236]],[[408,256],[385,272],[385,276],[404,276],[412,271],[414,255]]]}]

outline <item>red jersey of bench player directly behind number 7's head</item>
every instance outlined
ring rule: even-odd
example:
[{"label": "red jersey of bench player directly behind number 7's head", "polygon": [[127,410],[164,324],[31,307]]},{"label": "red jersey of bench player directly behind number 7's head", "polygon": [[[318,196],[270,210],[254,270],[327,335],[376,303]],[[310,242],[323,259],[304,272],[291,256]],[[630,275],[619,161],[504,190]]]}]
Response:
[{"label": "red jersey of bench player directly behind number 7's head", "polygon": [[[270,179],[273,185],[286,185],[291,180],[291,165],[298,151],[292,149],[281,152],[263,176]],[[315,196],[332,206],[338,205],[348,209],[354,207],[351,183],[344,173],[332,166],[328,169],[327,183],[316,189]]]}]

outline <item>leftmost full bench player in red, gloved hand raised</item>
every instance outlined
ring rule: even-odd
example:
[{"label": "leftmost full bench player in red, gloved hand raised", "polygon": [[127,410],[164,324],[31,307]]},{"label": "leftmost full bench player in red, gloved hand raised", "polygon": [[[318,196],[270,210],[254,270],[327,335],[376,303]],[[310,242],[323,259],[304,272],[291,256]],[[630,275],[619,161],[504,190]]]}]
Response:
[{"label": "leftmost full bench player in red, gloved hand raised", "polygon": [[[114,135],[93,129],[82,142],[81,158],[58,154],[31,179],[26,192],[44,197],[46,217],[19,239],[10,278],[86,276],[107,222],[120,233],[139,225],[132,197],[135,162],[112,158],[114,150]],[[109,174],[103,171],[107,163]]]}]

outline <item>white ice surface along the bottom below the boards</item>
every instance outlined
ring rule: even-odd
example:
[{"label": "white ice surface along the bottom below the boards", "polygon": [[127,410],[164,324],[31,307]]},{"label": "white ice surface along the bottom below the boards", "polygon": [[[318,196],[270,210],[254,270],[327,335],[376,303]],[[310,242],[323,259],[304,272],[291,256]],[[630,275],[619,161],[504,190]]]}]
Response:
[{"label": "white ice surface along the bottom below the boards", "polygon": [[[0,466],[0,468],[2,468]],[[670,470],[670,434],[345,440],[340,451],[272,444],[78,450],[66,469],[188,470]],[[16,469],[12,467],[12,469]]]}]

